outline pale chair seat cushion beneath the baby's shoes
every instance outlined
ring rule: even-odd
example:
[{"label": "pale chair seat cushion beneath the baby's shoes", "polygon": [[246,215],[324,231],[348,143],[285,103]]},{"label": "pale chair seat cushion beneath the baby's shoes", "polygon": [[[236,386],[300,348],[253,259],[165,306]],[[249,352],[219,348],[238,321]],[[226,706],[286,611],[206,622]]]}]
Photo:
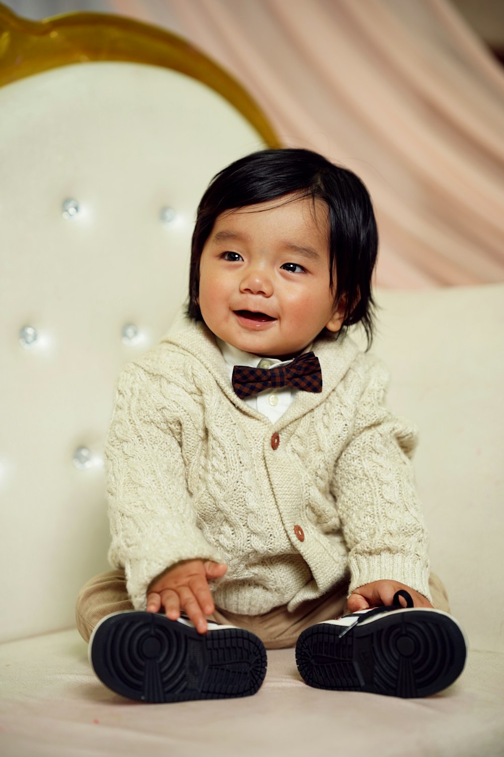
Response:
[{"label": "pale chair seat cushion beneath the baby's shoes", "polygon": [[471,650],[453,686],[425,699],[308,687],[293,649],[270,650],[254,696],[144,705],[104,687],[77,631],[0,645],[5,755],[501,754],[504,654]]}]

